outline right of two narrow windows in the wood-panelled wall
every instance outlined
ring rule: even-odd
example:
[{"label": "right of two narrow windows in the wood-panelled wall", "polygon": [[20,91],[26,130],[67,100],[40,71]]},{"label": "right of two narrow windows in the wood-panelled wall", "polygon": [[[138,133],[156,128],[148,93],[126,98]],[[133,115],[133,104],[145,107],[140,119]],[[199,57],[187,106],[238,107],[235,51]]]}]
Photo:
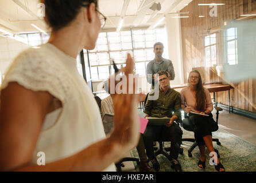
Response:
[{"label": "right of two narrow windows in the wood-panelled wall", "polygon": [[226,63],[229,65],[238,64],[236,27],[232,27],[226,30]]}]

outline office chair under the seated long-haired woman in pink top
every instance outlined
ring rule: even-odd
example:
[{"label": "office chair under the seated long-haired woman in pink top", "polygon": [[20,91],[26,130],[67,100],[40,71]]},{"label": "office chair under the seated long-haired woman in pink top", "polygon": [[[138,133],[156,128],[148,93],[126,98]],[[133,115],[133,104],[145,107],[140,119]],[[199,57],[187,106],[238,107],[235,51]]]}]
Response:
[{"label": "office chair under the seated long-haired woman in pink top", "polygon": [[[223,109],[222,109],[222,108],[219,108],[218,106],[215,106],[214,108],[215,108],[216,111],[217,111],[217,112],[216,112],[216,123],[217,123],[217,125],[218,125],[219,112],[222,111]],[[189,132],[193,132],[193,126],[192,126],[191,122],[188,120],[188,116],[187,116],[186,113],[185,113],[185,118],[184,118],[184,120],[182,120],[181,126],[183,126],[183,128],[184,128],[185,130],[188,130]],[[217,130],[218,130],[218,129],[217,129]],[[216,132],[217,130],[215,130],[214,132]],[[197,143],[196,143],[195,138],[183,138],[182,141],[193,142],[193,144],[191,145],[191,147],[188,149],[188,156],[189,156],[189,157],[192,157],[191,152],[192,152],[193,149],[195,149],[196,146],[197,146]],[[217,142],[217,145],[220,145],[220,141],[219,141],[218,138],[212,138],[212,141],[213,141],[213,142]],[[218,157],[220,157],[218,150],[217,150],[217,149],[214,149],[214,150],[215,150],[215,152],[218,154]]]}]

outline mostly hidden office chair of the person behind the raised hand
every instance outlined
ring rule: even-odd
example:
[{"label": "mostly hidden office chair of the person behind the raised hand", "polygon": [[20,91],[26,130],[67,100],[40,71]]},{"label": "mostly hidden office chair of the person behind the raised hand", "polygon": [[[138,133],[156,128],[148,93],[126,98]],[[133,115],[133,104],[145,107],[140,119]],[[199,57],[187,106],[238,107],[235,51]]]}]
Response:
[{"label": "mostly hidden office chair of the person behind the raised hand", "polygon": [[[103,126],[104,126],[104,132],[106,134],[110,133],[114,126],[114,115],[112,114],[104,114],[102,118]],[[121,172],[121,164],[125,161],[136,161],[137,164],[139,164],[139,158],[134,157],[124,157],[122,160],[115,163],[115,166],[117,167],[118,172]]]}]

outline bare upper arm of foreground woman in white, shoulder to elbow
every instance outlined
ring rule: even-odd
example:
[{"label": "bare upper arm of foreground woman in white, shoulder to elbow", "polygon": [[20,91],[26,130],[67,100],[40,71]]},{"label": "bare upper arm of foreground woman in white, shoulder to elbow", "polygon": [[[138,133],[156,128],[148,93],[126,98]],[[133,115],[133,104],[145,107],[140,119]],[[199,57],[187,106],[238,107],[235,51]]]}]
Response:
[{"label": "bare upper arm of foreground woman in white, shoulder to elbow", "polygon": [[0,169],[28,164],[52,96],[10,82],[1,92]]}]

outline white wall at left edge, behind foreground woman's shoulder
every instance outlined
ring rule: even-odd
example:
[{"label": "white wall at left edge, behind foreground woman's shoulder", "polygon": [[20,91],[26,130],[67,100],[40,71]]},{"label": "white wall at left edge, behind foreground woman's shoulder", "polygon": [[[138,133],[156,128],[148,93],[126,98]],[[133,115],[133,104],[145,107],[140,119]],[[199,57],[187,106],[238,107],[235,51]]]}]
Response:
[{"label": "white wall at left edge, behind foreground woman's shoulder", "polygon": [[15,39],[0,37],[0,72],[1,77],[5,74],[13,59],[22,50],[29,47],[25,43],[16,41]]}]

